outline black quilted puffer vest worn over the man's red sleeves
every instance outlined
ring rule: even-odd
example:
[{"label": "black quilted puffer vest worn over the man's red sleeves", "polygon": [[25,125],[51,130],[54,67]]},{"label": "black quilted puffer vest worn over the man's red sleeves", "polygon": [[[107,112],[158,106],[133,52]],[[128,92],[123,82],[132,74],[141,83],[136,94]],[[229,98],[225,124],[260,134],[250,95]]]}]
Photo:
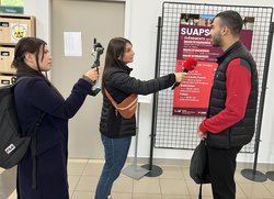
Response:
[{"label": "black quilted puffer vest worn over the man's red sleeves", "polygon": [[256,64],[250,52],[240,42],[235,43],[218,59],[218,68],[214,77],[214,85],[209,98],[207,118],[218,114],[225,109],[226,104],[226,70],[229,62],[241,58],[250,65],[252,77],[251,92],[248,99],[244,118],[235,125],[221,131],[220,133],[208,133],[207,144],[217,148],[231,148],[248,144],[255,131],[255,114],[258,103],[258,71]]}]

